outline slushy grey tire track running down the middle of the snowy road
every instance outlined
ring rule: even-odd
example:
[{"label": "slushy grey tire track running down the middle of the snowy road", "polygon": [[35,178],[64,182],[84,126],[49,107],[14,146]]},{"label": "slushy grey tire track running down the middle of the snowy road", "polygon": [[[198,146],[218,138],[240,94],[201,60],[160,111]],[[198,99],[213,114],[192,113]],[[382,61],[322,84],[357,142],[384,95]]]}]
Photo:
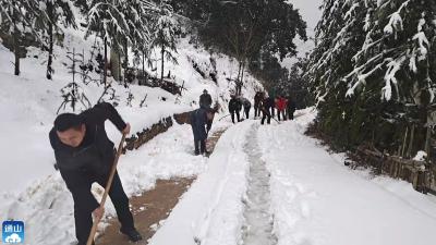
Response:
[{"label": "slushy grey tire track running down the middle of the snowy road", "polygon": [[269,172],[262,160],[257,145],[257,128],[253,126],[246,138],[244,150],[249,156],[250,175],[244,199],[245,224],[242,228],[244,245],[275,245],[274,218],[270,212]]}]

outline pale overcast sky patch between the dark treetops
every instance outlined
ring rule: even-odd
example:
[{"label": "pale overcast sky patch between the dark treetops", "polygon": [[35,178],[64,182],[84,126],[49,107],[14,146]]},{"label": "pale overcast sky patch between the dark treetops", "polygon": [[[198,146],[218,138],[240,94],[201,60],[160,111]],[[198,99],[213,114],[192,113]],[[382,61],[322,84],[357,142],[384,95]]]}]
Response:
[{"label": "pale overcast sky patch between the dark treetops", "polygon": [[[307,37],[314,37],[314,29],[316,24],[320,19],[322,11],[319,10],[319,5],[323,0],[287,0],[288,3],[292,3],[295,9],[299,9],[301,16],[307,23]],[[303,42],[301,40],[295,40],[299,57],[304,57],[304,53],[312,50],[314,47],[314,42],[312,40],[307,40]],[[295,59],[284,59],[282,64],[289,68]]]}]

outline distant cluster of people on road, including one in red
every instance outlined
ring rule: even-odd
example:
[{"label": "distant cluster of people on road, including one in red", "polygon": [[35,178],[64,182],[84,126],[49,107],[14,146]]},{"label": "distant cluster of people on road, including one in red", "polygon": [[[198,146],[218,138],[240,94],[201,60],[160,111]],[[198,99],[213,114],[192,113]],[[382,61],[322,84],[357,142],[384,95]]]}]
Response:
[{"label": "distant cluster of people on road, including one in red", "polygon": [[[249,99],[244,97],[237,97],[235,95],[231,96],[229,101],[229,112],[234,121],[234,115],[237,115],[237,122],[240,122],[240,111],[244,108],[245,118],[250,118],[250,109],[251,102]],[[284,98],[279,95],[276,98],[267,96],[264,91],[257,91],[254,96],[254,118],[259,118],[262,113],[261,124],[265,123],[265,120],[268,124],[270,124],[271,119],[276,117],[277,110],[277,119],[280,120],[293,120],[293,113],[295,112],[295,103],[291,97]]]}]

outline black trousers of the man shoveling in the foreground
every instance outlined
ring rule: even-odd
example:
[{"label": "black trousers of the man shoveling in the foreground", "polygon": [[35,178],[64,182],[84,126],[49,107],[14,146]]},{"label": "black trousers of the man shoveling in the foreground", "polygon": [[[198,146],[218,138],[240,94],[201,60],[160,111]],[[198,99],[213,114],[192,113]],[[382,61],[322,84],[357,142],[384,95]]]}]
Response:
[{"label": "black trousers of the man shoveling in the foreground", "polygon": [[[106,186],[107,177],[101,177],[96,180],[96,182]],[[112,181],[112,185],[109,191],[109,197],[117,210],[118,220],[121,223],[121,229],[123,231],[129,231],[134,229],[133,216],[129,208],[129,198],[124,193],[121,184],[120,176],[116,172]],[[74,219],[75,219],[75,235],[77,237],[77,245],[86,245],[88,240],[90,228],[93,226],[92,212],[85,212],[77,209],[74,205]]]}]

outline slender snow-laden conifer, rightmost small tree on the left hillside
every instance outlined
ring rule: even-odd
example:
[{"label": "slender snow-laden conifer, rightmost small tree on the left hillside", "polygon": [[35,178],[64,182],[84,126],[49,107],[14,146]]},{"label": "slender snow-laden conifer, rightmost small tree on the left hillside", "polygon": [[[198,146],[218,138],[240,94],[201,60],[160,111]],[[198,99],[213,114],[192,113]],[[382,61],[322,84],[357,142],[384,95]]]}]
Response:
[{"label": "slender snow-laden conifer, rightmost small tree on the left hillside", "polygon": [[174,19],[172,7],[167,0],[161,0],[158,8],[159,15],[153,27],[152,48],[160,48],[160,81],[164,82],[165,60],[177,63],[177,59],[172,53],[177,53],[177,34],[180,32],[180,25]]}]

